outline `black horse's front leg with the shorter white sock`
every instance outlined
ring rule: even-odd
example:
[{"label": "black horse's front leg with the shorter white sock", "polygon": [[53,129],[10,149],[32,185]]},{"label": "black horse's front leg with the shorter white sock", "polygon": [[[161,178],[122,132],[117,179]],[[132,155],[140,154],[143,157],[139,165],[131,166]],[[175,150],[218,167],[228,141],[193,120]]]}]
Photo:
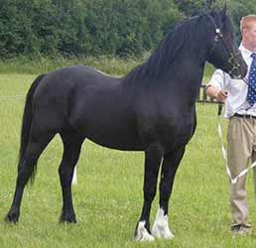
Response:
[{"label": "black horse's front leg with the shorter white sock", "polygon": [[153,241],[154,237],[150,231],[150,210],[152,201],[156,195],[159,168],[162,161],[163,152],[161,146],[152,145],[145,152],[145,172],[144,172],[144,203],[141,217],[135,230],[137,241]]}]

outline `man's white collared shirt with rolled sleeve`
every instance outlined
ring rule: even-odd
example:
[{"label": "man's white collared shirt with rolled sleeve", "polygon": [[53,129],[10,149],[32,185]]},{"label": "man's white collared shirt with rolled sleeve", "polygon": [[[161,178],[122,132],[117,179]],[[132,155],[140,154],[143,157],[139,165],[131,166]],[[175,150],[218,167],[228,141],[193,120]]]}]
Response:
[{"label": "man's white collared shirt with rolled sleeve", "polygon": [[[250,65],[253,60],[251,58],[252,52],[245,49],[242,45],[240,45],[239,50],[241,51],[244,61],[248,65],[248,71],[245,77],[248,81]],[[250,106],[250,104],[247,102],[246,97],[248,84],[246,84],[242,79],[232,79],[229,74],[223,70],[216,69],[212,74],[207,86],[209,85],[214,86],[218,90],[222,89],[228,92],[228,96],[225,101],[224,118],[230,118],[235,113],[256,116],[256,104]]]}]

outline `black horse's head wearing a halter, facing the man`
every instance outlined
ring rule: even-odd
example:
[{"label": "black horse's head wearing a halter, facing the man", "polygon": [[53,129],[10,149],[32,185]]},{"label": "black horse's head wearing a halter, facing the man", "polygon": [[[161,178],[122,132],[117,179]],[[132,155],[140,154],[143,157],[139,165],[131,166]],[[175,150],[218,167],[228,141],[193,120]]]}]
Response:
[{"label": "black horse's head wearing a halter, facing the man", "polygon": [[234,39],[234,31],[226,8],[206,14],[207,18],[207,61],[221,68],[232,78],[244,78],[247,64],[244,62]]}]

